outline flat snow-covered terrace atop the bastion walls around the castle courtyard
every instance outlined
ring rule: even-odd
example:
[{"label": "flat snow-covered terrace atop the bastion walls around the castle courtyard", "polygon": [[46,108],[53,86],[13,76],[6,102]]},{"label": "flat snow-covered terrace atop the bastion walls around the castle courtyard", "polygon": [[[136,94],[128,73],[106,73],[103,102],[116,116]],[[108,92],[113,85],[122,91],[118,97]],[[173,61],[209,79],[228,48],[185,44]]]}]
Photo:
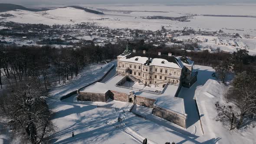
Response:
[{"label": "flat snow-covered terrace atop the bastion walls around the castle courtyard", "polygon": [[125,87],[118,87],[116,84],[121,81],[124,76],[115,75],[108,82],[101,83],[96,82],[94,85],[90,85],[80,92],[92,92],[92,93],[102,93],[105,94],[108,90],[113,90],[117,92],[123,92],[129,94],[129,92],[134,91],[135,95],[139,95],[145,98],[155,99],[154,105],[158,105],[162,108],[166,108],[171,111],[185,115],[184,100],[182,98],[175,97],[178,90],[178,85],[167,85],[161,94],[154,94],[152,92],[140,91],[136,89],[130,89]]}]

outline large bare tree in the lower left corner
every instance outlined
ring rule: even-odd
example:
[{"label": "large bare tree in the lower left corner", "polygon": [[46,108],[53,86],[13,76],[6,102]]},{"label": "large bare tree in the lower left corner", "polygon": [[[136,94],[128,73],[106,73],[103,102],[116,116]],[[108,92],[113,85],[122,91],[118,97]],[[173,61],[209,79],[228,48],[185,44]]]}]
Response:
[{"label": "large bare tree in the lower left corner", "polygon": [[51,111],[39,82],[20,82],[1,97],[0,116],[4,125],[32,144],[40,144],[53,131]]}]

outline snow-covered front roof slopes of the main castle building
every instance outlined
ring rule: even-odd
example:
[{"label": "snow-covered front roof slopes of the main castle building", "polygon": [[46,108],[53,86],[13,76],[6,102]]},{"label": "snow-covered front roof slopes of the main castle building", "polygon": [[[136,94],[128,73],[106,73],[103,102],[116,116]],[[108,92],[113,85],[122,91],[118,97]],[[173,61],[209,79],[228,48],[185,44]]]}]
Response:
[{"label": "snow-covered front roof slopes of the main castle building", "polygon": [[[129,59],[126,57],[123,57],[122,59],[119,59],[119,61],[122,61],[122,62],[133,62],[133,63],[143,64],[143,65],[147,62],[147,60],[148,60],[147,57],[141,57],[141,56],[135,56]],[[168,62],[166,59],[150,58],[149,60],[150,60],[150,63],[148,66],[162,66],[167,68],[181,69],[181,67],[177,65],[177,63]]]}]

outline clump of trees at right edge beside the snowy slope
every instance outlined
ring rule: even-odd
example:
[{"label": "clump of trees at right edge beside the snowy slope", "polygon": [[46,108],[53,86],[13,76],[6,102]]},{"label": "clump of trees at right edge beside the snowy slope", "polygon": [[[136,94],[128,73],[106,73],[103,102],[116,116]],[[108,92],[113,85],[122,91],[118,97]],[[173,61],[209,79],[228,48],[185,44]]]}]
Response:
[{"label": "clump of trees at right edge beside the snowy slope", "polygon": [[214,67],[223,83],[230,72],[235,74],[226,93],[226,100],[231,103],[215,104],[220,119],[229,121],[230,130],[239,129],[245,119],[249,123],[256,115],[256,65],[252,58],[246,49],[241,49]]}]

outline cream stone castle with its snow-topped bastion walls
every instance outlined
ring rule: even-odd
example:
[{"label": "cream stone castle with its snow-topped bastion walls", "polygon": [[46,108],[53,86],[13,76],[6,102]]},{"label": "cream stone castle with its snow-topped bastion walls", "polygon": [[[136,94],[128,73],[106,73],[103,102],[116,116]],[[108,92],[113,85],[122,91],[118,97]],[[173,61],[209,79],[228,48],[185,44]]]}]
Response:
[{"label": "cream stone castle with its snow-topped bastion walls", "polygon": [[[178,98],[181,87],[197,81],[194,62],[183,56],[151,54],[128,47],[117,57],[116,74],[107,82],[96,82],[78,91],[79,101],[123,101],[152,108],[152,115],[187,128],[187,114],[183,98]],[[143,112],[143,111],[142,111]]]}]

